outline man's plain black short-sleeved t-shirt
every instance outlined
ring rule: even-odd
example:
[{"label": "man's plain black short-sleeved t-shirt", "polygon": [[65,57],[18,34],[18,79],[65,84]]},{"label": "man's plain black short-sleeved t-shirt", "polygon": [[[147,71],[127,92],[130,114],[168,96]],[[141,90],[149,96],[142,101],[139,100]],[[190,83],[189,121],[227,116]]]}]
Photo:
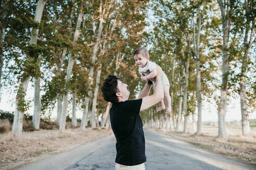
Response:
[{"label": "man's plain black short-sleeved t-shirt", "polygon": [[142,98],[113,104],[110,109],[111,127],[117,139],[116,163],[133,166],[146,162],[141,105]]}]

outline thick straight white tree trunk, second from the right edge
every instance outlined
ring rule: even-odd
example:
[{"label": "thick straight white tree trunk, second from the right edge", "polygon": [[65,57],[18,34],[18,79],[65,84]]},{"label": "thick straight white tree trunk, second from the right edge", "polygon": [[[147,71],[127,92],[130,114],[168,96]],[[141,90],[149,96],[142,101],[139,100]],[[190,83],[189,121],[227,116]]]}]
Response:
[{"label": "thick straight white tree trunk, second from the right edge", "polygon": [[[219,124],[219,135],[218,137],[227,139],[225,129],[225,116],[227,107],[227,89],[228,89],[228,67],[229,67],[229,52],[228,52],[228,41],[231,21],[229,20],[229,1],[226,2],[217,0],[221,8],[222,18],[222,32],[223,32],[223,47],[222,47],[222,82],[221,82],[221,99],[218,107],[218,124]],[[225,9],[226,8],[226,9]]]}]

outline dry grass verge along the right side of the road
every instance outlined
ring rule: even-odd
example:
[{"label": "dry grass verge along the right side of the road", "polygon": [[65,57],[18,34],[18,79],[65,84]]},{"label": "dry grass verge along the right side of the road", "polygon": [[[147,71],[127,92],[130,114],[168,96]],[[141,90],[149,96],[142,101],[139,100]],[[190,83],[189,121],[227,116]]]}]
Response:
[{"label": "dry grass verge along the right side of the road", "polygon": [[241,127],[228,127],[228,139],[217,138],[217,127],[203,126],[203,135],[195,135],[195,132],[187,134],[170,132],[167,130],[153,129],[165,135],[181,139],[190,144],[220,153],[227,158],[235,159],[240,162],[256,167],[256,128],[251,128],[251,136],[242,136]]}]

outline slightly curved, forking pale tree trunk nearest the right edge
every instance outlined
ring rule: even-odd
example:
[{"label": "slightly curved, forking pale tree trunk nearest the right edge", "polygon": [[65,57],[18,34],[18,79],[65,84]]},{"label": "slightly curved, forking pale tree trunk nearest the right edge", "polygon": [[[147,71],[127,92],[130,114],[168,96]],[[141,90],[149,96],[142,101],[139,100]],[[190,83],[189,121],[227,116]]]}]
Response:
[{"label": "slightly curved, forking pale tree trunk nearest the right edge", "polygon": [[[245,9],[246,12],[251,12],[252,8],[248,7],[247,1],[245,0]],[[241,67],[241,78],[240,78],[240,104],[241,104],[241,117],[242,117],[242,135],[250,135],[250,124],[249,124],[249,114],[247,111],[248,104],[246,99],[246,76],[248,71],[248,59],[251,46],[253,44],[253,37],[255,33],[255,19],[252,21],[251,25],[251,34],[250,40],[248,42],[248,34],[249,34],[249,27],[250,23],[246,24],[246,32],[245,32],[245,39],[244,39],[244,46],[245,46],[245,53],[244,58],[242,59],[242,67]]]}]

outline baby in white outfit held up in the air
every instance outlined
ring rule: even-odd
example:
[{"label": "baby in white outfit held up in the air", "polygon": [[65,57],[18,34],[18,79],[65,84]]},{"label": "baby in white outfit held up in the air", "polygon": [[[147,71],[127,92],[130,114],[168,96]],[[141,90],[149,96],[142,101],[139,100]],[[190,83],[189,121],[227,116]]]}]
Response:
[{"label": "baby in white outfit held up in the air", "polygon": [[[150,80],[153,82],[155,86],[156,76],[157,76],[157,65],[154,62],[149,61],[149,53],[146,48],[137,48],[133,52],[133,57],[137,66],[139,66],[139,74],[142,76],[143,81]],[[167,105],[166,114],[171,113],[171,97],[169,94],[170,82],[167,76],[162,71],[162,83],[163,83],[163,92],[164,92],[164,100]],[[156,111],[160,111],[165,109],[163,100],[158,103],[159,107]]]}]

